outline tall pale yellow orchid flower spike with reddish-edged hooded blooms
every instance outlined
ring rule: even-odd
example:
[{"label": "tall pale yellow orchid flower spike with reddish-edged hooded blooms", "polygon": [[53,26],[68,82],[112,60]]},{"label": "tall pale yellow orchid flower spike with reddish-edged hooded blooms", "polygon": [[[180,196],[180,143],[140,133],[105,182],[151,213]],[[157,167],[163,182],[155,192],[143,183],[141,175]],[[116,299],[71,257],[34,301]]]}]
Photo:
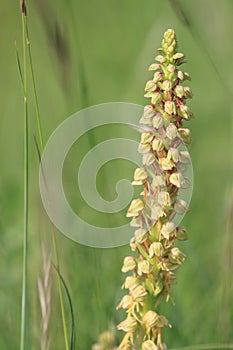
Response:
[{"label": "tall pale yellow orchid flower spike with reddish-edged hooded blooms", "polygon": [[145,97],[151,103],[144,109],[138,151],[142,167],[134,173],[133,185],[142,186],[140,198],[134,199],[127,217],[136,228],[130,242],[133,256],[124,259],[122,272],[130,272],[122,286],[128,290],[117,309],[125,309],[127,317],[118,325],[126,334],[119,349],[165,350],[162,329],[170,326],[158,313],[158,305],[170,299],[170,288],[177,282],[174,271],[185,259],[175,247],[176,240],[186,240],[184,227],[176,227],[175,215],[188,210],[187,203],[178,198],[180,188],[187,185],[182,169],[190,162],[182,145],[191,142],[190,131],[183,128],[192,113],[186,99],[192,97],[187,86],[188,73],[179,69],[184,55],[177,52],[173,30],[165,32],[162,48],[149,67],[155,71],[145,87]]}]

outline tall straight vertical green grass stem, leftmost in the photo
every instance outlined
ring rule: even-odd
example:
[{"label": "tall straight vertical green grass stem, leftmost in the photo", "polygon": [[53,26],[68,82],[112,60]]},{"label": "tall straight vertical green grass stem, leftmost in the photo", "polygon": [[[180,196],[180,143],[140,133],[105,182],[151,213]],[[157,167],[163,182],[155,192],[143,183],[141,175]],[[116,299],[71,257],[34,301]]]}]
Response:
[{"label": "tall straight vertical green grass stem, leftmost in the photo", "polygon": [[24,91],[24,237],[23,237],[23,278],[21,303],[20,350],[25,349],[26,297],[27,297],[27,250],[28,250],[28,104],[27,104],[27,59],[25,16],[22,14],[23,39],[23,91]]}]

